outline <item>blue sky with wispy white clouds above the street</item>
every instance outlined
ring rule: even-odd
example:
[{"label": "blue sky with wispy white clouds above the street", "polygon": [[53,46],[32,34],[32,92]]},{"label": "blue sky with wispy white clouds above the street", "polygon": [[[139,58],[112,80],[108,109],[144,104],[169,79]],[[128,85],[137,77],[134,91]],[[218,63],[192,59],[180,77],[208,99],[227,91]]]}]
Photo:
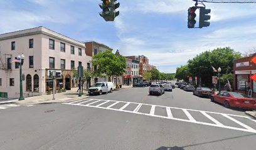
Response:
[{"label": "blue sky with wispy white clouds above the street", "polygon": [[144,55],[163,73],[175,73],[197,54],[217,47],[240,53],[256,47],[256,4],[205,2],[210,26],[188,29],[192,0],[117,0],[120,15],[114,22],[100,17],[100,2],[0,0],[0,34],[44,26],[78,41],[101,42],[123,56]]}]

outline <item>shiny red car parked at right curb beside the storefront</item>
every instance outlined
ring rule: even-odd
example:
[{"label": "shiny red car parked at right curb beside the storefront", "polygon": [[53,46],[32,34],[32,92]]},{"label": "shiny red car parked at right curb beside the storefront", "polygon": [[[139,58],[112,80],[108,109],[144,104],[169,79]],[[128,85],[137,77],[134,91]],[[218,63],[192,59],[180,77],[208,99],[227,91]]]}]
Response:
[{"label": "shiny red car parked at right curb beside the storefront", "polygon": [[226,108],[256,109],[256,100],[241,93],[223,91],[220,94],[213,94],[211,101],[224,104]]}]

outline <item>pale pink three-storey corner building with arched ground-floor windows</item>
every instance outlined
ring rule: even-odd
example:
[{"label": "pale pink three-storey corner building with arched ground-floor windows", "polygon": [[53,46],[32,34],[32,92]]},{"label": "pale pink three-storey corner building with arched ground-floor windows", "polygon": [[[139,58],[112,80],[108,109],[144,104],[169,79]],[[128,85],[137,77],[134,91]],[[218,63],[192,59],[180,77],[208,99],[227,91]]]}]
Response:
[{"label": "pale pink three-storey corner building with arched ground-floor windows", "polygon": [[[24,54],[24,97],[46,94],[55,89],[76,86],[73,68],[90,66],[85,44],[45,27],[0,34],[0,93],[3,97],[19,97],[19,65],[11,63],[18,54]],[[58,74],[55,82],[50,71]],[[3,94],[4,93],[4,94]]]}]

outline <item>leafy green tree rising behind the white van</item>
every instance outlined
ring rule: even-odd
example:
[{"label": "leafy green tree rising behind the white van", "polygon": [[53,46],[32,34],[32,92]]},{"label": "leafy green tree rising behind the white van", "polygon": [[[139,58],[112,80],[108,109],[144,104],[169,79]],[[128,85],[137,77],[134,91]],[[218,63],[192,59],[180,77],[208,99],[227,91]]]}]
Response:
[{"label": "leafy green tree rising behind the white van", "polygon": [[111,82],[111,76],[120,76],[125,73],[126,59],[124,56],[115,56],[111,51],[107,50],[93,56],[92,64],[97,65],[95,76],[106,74]]}]

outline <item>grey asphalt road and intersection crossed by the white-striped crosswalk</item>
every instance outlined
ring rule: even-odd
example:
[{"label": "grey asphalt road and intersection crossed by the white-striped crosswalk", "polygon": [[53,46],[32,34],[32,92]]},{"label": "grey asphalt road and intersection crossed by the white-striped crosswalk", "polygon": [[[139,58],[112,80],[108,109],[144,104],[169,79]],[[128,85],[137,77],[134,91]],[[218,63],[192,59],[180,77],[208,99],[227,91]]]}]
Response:
[{"label": "grey asphalt road and intersection crossed by the white-striped crosswalk", "polygon": [[[121,102],[120,102],[121,101]],[[0,109],[0,149],[255,149],[239,109],[174,89],[120,89],[65,104]]]}]

